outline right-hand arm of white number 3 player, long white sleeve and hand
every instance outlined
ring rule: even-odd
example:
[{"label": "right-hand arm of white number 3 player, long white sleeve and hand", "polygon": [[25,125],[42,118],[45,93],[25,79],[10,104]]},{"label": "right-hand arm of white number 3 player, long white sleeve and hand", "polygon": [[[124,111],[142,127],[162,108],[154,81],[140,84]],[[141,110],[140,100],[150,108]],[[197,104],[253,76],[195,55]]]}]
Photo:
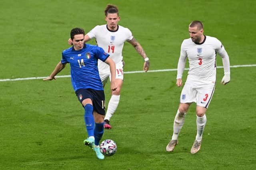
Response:
[{"label": "right-hand arm of white number 3 player, long white sleeve and hand", "polygon": [[224,49],[223,45],[220,46],[220,49],[217,52],[220,55],[220,57],[222,57],[222,63],[224,67],[224,76],[220,83],[223,85],[226,85],[227,83],[230,82],[230,62],[229,62],[228,53]]}]

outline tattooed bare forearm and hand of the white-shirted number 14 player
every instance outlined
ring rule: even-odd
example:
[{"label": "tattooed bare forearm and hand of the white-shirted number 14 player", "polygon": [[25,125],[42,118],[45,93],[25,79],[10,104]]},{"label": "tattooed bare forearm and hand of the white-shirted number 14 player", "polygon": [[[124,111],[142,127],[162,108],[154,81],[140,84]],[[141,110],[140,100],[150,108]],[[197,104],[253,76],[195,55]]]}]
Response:
[{"label": "tattooed bare forearm and hand of the white-shirted number 14 player", "polygon": [[149,59],[148,59],[144,49],[142,48],[140,43],[134,37],[131,40],[129,40],[128,42],[135,48],[135,50],[141,55],[141,57],[143,57],[143,59],[145,61],[143,70],[145,72],[147,72],[149,69],[150,63],[149,63]]}]

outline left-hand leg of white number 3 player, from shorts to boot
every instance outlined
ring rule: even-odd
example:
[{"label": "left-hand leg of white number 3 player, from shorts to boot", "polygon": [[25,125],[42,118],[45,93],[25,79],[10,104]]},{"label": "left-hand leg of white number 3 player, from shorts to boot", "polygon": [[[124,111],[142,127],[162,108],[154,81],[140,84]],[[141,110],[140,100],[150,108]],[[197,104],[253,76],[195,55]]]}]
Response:
[{"label": "left-hand leg of white number 3 player, from shorts to boot", "polygon": [[185,122],[186,112],[188,111],[190,104],[191,103],[180,103],[179,109],[174,118],[172,140],[166,147],[166,151],[168,152],[172,152],[174,147],[178,144],[178,135]]}]

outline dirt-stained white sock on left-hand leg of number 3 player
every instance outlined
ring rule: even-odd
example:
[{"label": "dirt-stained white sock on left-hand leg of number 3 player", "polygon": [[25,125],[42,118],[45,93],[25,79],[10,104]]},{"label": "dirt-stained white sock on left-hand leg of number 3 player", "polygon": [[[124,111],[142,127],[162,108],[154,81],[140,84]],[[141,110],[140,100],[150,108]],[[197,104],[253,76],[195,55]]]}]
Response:
[{"label": "dirt-stained white sock on left-hand leg of number 3 player", "polygon": [[186,113],[180,113],[179,109],[176,113],[176,116],[174,118],[173,123],[173,135],[172,140],[177,140],[178,135],[180,133],[180,129],[182,128],[184,122],[185,122]]}]

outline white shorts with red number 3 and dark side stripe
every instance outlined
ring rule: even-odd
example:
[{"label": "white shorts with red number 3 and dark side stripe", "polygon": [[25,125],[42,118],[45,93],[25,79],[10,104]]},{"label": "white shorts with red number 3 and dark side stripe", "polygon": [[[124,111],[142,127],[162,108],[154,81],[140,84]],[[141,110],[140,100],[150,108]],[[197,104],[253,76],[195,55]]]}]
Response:
[{"label": "white shorts with red number 3 and dark side stripe", "polygon": [[196,81],[186,82],[180,95],[180,103],[196,102],[196,105],[207,109],[212,100],[214,89],[215,84],[198,84]]}]

